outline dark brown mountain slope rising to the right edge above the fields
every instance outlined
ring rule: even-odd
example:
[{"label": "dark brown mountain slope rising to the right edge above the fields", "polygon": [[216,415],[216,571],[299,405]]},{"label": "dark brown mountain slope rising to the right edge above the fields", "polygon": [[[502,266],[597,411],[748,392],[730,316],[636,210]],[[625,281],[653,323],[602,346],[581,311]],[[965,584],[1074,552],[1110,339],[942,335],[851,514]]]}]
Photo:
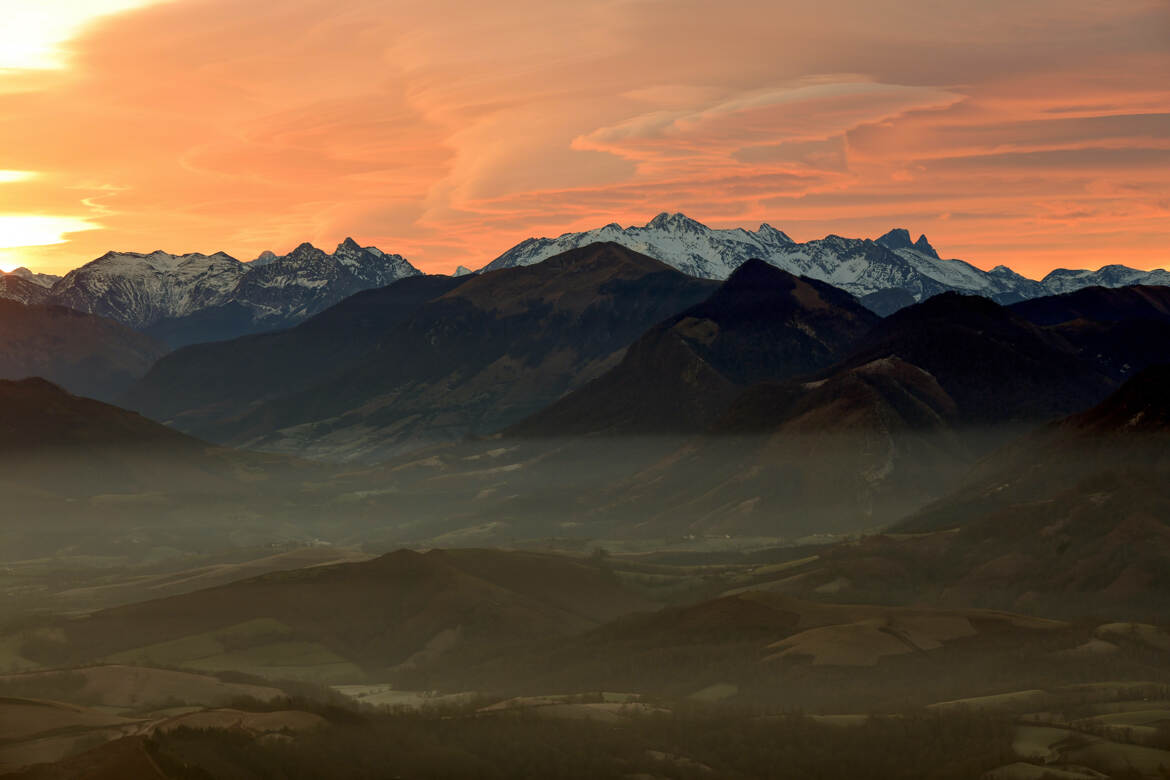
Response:
[{"label": "dark brown mountain slope rising to the right edge above the fields", "polygon": [[800,587],[1162,620],[1168,485],[1170,368],[1159,366],[989,456],[890,536],[826,553]]}]

